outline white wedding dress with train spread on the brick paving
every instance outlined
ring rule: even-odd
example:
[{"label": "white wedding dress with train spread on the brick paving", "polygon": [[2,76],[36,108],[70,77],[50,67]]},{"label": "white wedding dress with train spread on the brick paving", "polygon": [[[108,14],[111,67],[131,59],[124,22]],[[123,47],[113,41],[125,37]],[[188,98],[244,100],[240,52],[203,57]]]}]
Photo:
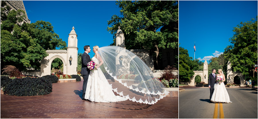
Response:
[{"label": "white wedding dress with train spread on the brick paving", "polygon": [[[96,57],[93,57],[92,61],[99,64],[99,60]],[[100,68],[91,71],[89,74],[85,99],[92,102],[118,102],[127,100],[127,98],[114,94],[112,87]]]}]

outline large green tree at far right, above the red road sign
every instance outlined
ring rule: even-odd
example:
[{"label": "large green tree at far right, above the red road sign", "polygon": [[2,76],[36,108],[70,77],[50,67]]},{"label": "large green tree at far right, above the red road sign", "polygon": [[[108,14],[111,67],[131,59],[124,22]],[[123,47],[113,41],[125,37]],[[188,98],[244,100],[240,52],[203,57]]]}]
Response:
[{"label": "large green tree at far right, above the red road sign", "polygon": [[257,17],[241,22],[233,32],[233,37],[229,39],[232,45],[226,47],[224,57],[231,62],[233,72],[240,71],[246,79],[253,79],[257,77],[254,71],[254,64],[257,64]]}]

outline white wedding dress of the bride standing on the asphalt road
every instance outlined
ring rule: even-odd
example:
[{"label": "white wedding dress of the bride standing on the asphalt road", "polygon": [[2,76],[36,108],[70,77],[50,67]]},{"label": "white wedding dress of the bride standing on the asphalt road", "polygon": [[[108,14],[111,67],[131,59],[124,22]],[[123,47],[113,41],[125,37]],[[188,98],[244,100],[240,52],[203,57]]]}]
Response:
[{"label": "white wedding dress of the bride standing on the asphalt road", "polygon": [[[223,78],[223,76],[217,76],[217,78]],[[230,103],[230,99],[229,99],[229,95],[228,92],[226,90],[225,84],[224,82],[220,83],[217,82],[216,84],[214,84],[214,92],[212,94],[212,98],[211,98],[212,102],[223,102],[223,103]]]}]

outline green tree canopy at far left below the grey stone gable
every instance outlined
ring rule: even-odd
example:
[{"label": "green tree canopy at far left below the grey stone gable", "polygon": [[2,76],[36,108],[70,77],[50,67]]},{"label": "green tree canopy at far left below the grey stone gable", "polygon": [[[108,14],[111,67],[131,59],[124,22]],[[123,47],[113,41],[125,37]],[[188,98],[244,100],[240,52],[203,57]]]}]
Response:
[{"label": "green tree canopy at far left below the grey stone gable", "polygon": [[22,21],[25,12],[6,10],[1,8],[1,69],[7,65],[20,70],[39,69],[40,60],[48,56],[47,49],[66,49],[65,41],[54,33],[51,23],[36,21],[20,26],[16,23]]}]

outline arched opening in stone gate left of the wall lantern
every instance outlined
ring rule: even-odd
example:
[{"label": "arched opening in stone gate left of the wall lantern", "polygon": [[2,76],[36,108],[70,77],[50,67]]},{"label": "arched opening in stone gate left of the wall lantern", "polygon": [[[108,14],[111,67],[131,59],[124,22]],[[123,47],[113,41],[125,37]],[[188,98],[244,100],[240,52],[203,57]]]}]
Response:
[{"label": "arched opening in stone gate left of the wall lantern", "polygon": [[63,75],[64,73],[64,63],[60,58],[55,58],[51,62],[51,74]]}]

